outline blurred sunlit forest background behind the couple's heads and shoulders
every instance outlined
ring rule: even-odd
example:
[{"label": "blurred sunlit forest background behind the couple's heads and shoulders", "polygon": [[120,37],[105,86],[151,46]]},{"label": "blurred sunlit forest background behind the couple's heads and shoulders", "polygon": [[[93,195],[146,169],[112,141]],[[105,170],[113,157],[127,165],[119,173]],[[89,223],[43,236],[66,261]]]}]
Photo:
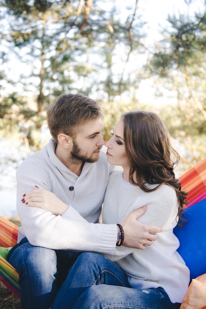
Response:
[{"label": "blurred sunlit forest background behind the couple's heads and shoulders", "polygon": [[122,113],[157,112],[177,176],[206,156],[206,0],[184,13],[176,0],[154,37],[151,2],[160,14],[159,0],[0,0],[1,215],[15,214],[16,168],[49,140],[46,109],[64,93],[101,103],[105,140]]}]

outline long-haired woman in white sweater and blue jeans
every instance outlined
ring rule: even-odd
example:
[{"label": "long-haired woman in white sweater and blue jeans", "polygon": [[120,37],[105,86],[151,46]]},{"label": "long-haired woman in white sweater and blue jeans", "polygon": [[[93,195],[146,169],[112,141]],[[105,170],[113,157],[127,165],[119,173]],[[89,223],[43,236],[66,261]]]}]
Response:
[{"label": "long-haired woman in white sweater and blue jeans", "polygon": [[[81,254],[52,308],[179,308],[189,284],[189,270],[176,251],[179,241],[173,234],[186,203],[186,193],[173,172],[179,155],[171,146],[166,126],[154,113],[126,113],[112,134],[105,144],[107,160],[122,166],[123,172],[114,171],[110,176],[103,223],[118,224],[146,205],[147,211],[138,221],[159,226],[162,232],[152,246],[139,250],[122,246],[124,231],[119,225],[114,254],[106,258]],[[116,287],[111,290],[109,285]]]}]

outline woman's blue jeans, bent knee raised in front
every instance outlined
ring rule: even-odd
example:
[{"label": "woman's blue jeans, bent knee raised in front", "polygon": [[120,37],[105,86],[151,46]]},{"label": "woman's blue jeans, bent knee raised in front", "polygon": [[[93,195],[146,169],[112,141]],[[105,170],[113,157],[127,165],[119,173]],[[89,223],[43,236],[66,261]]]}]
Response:
[{"label": "woman's blue jeans, bent knee raised in front", "polygon": [[100,254],[82,253],[51,309],[178,309],[162,287],[131,288],[125,273]]}]

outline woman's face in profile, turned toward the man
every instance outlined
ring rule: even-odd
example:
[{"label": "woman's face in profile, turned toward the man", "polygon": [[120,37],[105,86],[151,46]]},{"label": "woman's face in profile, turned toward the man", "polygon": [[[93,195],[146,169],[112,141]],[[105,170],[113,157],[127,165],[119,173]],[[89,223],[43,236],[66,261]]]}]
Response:
[{"label": "woman's face in profile, turned toward the man", "polygon": [[124,122],[120,119],[115,126],[112,137],[105,143],[107,147],[107,161],[113,165],[121,165],[123,168],[130,167],[124,143]]}]

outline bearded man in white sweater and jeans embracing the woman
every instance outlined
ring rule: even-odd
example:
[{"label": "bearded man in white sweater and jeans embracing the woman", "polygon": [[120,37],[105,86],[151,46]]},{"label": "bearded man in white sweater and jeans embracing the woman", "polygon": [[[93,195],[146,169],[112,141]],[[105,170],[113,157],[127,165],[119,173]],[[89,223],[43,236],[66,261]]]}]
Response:
[{"label": "bearded man in white sweater and jeans embracing the woman", "polygon": [[[100,107],[81,94],[62,95],[49,107],[47,120],[53,139],[17,170],[17,210],[22,228],[20,243],[10,252],[9,262],[19,272],[22,309],[51,306],[79,254],[71,250],[112,254],[119,235],[116,225],[98,224],[113,169],[101,151]],[[64,204],[56,202],[54,195],[54,208],[61,208],[61,212],[52,214],[40,204],[27,206],[25,193],[34,186],[59,197]],[[137,222],[144,211],[136,211],[122,223],[124,245],[143,249],[161,232]]]}]

